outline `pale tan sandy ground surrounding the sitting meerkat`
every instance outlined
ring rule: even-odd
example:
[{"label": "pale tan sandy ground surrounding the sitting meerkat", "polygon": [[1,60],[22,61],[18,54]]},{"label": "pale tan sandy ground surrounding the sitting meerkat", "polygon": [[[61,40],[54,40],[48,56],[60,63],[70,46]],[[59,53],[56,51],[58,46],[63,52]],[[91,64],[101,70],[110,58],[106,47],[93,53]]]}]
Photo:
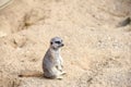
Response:
[{"label": "pale tan sandy ground surrounding the sitting meerkat", "polygon": [[[0,87],[131,87],[130,0],[14,0],[0,11]],[[66,46],[62,80],[43,72],[50,38]]]}]

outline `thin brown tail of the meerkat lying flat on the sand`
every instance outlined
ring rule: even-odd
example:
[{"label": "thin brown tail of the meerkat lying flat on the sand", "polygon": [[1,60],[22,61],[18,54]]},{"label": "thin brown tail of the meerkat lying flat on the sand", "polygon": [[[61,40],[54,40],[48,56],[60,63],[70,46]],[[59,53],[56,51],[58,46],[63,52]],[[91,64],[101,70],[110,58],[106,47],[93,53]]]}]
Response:
[{"label": "thin brown tail of the meerkat lying flat on the sand", "polygon": [[37,72],[32,72],[32,73],[23,73],[20,74],[19,77],[43,77],[44,74],[43,73],[37,73]]}]

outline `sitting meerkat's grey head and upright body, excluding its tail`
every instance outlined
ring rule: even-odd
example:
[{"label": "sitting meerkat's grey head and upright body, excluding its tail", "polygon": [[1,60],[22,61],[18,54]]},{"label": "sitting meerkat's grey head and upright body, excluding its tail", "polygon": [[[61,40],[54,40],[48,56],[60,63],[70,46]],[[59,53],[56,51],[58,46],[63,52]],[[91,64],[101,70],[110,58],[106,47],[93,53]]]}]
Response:
[{"label": "sitting meerkat's grey head and upright body, excluding its tail", "polygon": [[60,55],[60,49],[64,45],[60,37],[55,37],[50,40],[50,47],[43,60],[43,71],[45,77],[61,79],[61,75],[66,74],[66,72],[62,71],[63,60]]}]

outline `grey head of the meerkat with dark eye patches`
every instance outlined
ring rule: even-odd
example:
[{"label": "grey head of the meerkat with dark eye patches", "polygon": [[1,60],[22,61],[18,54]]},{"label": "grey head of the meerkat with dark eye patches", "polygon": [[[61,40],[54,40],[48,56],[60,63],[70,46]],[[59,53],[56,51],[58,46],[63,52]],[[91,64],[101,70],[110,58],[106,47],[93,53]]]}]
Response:
[{"label": "grey head of the meerkat with dark eye patches", "polygon": [[63,47],[64,45],[63,45],[63,42],[62,42],[62,39],[60,38],[60,37],[55,37],[55,38],[52,38],[51,40],[50,40],[50,47],[52,48],[52,49],[59,49],[59,48],[61,48],[61,47]]}]

